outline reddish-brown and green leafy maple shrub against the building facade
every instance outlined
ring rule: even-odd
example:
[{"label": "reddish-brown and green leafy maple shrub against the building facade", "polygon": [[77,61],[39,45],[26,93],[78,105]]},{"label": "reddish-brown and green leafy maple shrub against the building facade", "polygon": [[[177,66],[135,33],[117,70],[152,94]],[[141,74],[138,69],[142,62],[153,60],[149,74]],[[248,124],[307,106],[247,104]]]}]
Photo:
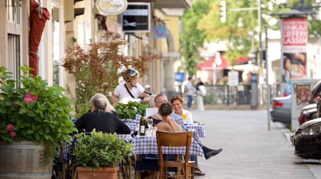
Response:
[{"label": "reddish-brown and green leafy maple shrub against the building facade", "polygon": [[123,45],[126,41],[120,36],[105,34],[99,42],[87,44],[86,50],[67,47],[62,66],[75,77],[76,94],[72,100],[77,114],[88,111],[88,101],[95,93],[108,96],[120,77],[130,75],[125,71],[118,73],[118,69],[133,68],[143,77],[149,71],[147,63],[162,58],[161,55],[126,56],[119,50]]}]

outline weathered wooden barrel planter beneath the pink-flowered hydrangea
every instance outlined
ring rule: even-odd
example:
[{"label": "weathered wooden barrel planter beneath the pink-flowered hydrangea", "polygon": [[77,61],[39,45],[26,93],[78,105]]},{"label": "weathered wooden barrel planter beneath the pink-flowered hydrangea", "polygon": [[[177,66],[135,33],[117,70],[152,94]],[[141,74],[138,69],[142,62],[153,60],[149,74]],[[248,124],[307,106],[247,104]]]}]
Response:
[{"label": "weathered wooden barrel planter beneath the pink-flowered hydrangea", "polygon": [[1,179],[51,179],[53,164],[42,167],[39,150],[45,146],[40,142],[0,141]]}]

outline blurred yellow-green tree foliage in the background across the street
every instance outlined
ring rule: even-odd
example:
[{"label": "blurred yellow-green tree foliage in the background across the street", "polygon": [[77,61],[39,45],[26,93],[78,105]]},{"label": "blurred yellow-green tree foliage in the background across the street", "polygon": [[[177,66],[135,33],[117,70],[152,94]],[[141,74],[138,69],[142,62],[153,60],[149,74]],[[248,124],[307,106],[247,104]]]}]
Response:
[{"label": "blurred yellow-green tree foliage in the background across the street", "polygon": [[[254,50],[259,50],[259,28],[257,10],[232,11],[238,8],[258,7],[257,0],[225,0],[226,22],[220,21],[220,1],[194,0],[193,6],[186,9],[181,17],[184,28],[180,36],[180,50],[183,57],[182,68],[194,74],[196,64],[201,61],[199,48],[203,42],[226,42],[224,57],[232,60],[247,56],[251,52],[254,37]],[[287,6],[299,6],[300,1],[288,0]],[[313,4],[315,0],[305,0],[305,6]],[[279,8],[274,0],[261,0],[262,33],[264,27],[280,30],[278,16],[271,16],[275,12],[289,11],[289,8]],[[316,11],[317,9],[312,9]],[[275,23],[271,23],[274,19]],[[242,25],[241,25],[242,24]],[[308,15],[308,34],[321,34],[320,21],[315,15]],[[254,33],[253,33],[254,32]],[[253,36],[254,34],[254,36]],[[262,48],[264,49],[262,39]]]}]

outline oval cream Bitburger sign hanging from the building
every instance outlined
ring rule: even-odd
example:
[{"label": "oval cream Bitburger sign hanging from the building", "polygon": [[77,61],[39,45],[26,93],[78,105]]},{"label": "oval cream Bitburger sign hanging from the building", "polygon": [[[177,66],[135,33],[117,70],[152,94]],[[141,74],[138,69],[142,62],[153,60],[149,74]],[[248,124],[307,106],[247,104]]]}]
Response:
[{"label": "oval cream Bitburger sign hanging from the building", "polygon": [[97,0],[97,9],[107,15],[116,15],[124,12],[127,8],[127,0]]}]

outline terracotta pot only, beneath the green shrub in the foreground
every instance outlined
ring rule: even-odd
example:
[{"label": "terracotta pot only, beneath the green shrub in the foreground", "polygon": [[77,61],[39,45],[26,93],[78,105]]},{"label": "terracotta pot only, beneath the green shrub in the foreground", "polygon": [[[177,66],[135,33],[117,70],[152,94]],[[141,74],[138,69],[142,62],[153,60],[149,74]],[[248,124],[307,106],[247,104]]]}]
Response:
[{"label": "terracotta pot only, beneath the green shrub in the foreground", "polygon": [[117,179],[117,172],[119,167],[95,167],[89,171],[89,167],[77,166],[78,179],[91,179],[91,178],[104,178],[104,179]]}]

